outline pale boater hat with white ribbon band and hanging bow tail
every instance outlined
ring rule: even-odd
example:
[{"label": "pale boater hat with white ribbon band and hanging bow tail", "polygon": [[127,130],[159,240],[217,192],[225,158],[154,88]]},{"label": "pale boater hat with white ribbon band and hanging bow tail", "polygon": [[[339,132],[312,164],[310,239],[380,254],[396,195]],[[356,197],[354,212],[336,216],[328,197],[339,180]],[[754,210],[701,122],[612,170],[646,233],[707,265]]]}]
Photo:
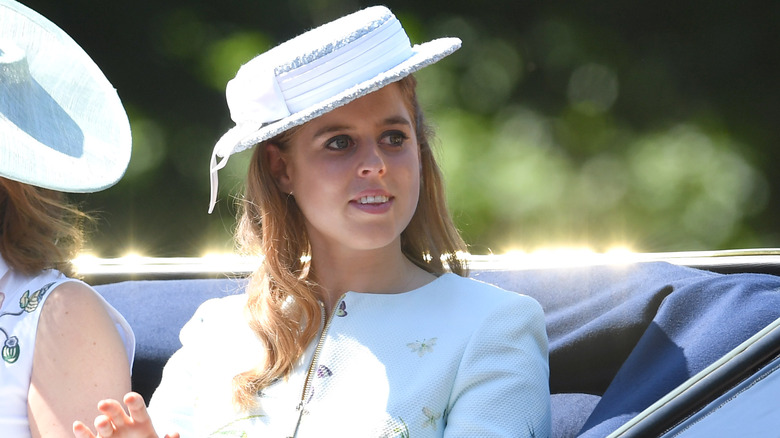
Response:
[{"label": "pale boater hat with white ribbon band and hanging bow tail", "polygon": [[[439,61],[458,38],[412,46],[389,9],[374,6],[301,34],[244,64],[228,82],[236,126],[211,156],[211,202],[228,157]],[[221,158],[221,160],[220,160]]]}]

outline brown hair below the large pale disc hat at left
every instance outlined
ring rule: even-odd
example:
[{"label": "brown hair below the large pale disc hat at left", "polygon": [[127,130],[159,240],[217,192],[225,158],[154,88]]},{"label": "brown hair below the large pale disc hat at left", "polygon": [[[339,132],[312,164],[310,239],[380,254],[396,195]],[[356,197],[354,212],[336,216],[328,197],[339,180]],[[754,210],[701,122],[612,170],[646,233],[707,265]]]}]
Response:
[{"label": "brown hair below the large pale disc hat at left", "polygon": [[88,220],[64,193],[0,177],[0,254],[18,272],[57,269],[73,276],[71,260]]}]

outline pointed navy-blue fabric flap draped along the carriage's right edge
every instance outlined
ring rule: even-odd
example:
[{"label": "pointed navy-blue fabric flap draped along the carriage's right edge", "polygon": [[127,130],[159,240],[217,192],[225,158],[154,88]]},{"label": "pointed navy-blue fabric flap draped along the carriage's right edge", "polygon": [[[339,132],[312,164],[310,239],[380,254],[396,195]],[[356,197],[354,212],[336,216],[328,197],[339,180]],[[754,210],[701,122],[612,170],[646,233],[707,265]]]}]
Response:
[{"label": "pointed navy-blue fabric flap draped along the carriage's right edge", "polygon": [[780,277],[712,274],[670,289],[580,436],[608,435],[780,317]]}]

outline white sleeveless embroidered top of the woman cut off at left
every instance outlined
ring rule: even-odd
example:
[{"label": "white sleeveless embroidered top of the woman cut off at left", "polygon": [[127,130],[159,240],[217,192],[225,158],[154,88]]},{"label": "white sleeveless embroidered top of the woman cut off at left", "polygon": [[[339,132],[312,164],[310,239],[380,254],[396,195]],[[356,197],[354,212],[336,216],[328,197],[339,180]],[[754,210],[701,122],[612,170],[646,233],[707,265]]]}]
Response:
[{"label": "white sleeveless embroidered top of the woman cut off at left", "polygon": [[[38,320],[51,292],[68,281],[77,280],[69,279],[58,271],[44,271],[35,277],[20,275],[8,269],[0,258],[0,342],[3,344],[0,360],[0,431],[3,438],[30,436],[27,393],[30,389]],[[108,303],[105,306],[122,336],[132,364],[135,346],[133,332],[113,307]]]}]

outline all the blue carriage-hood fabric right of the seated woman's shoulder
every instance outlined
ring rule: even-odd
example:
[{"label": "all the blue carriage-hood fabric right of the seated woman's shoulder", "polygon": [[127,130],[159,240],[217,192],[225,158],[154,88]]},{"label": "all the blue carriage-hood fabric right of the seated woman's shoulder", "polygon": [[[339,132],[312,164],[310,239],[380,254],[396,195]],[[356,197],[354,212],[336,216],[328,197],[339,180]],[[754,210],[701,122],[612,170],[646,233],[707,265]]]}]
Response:
[{"label": "all the blue carriage-hood fabric right of the seated woman's shoulder", "polygon": [[[609,435],[780,317],[780,277],[766,274],[652,262],[475,277],[542,305],[553,394],[602,396],[579,433],[557,436]],[[581,418],[577,396],[558,398],[555,421]]]}]

